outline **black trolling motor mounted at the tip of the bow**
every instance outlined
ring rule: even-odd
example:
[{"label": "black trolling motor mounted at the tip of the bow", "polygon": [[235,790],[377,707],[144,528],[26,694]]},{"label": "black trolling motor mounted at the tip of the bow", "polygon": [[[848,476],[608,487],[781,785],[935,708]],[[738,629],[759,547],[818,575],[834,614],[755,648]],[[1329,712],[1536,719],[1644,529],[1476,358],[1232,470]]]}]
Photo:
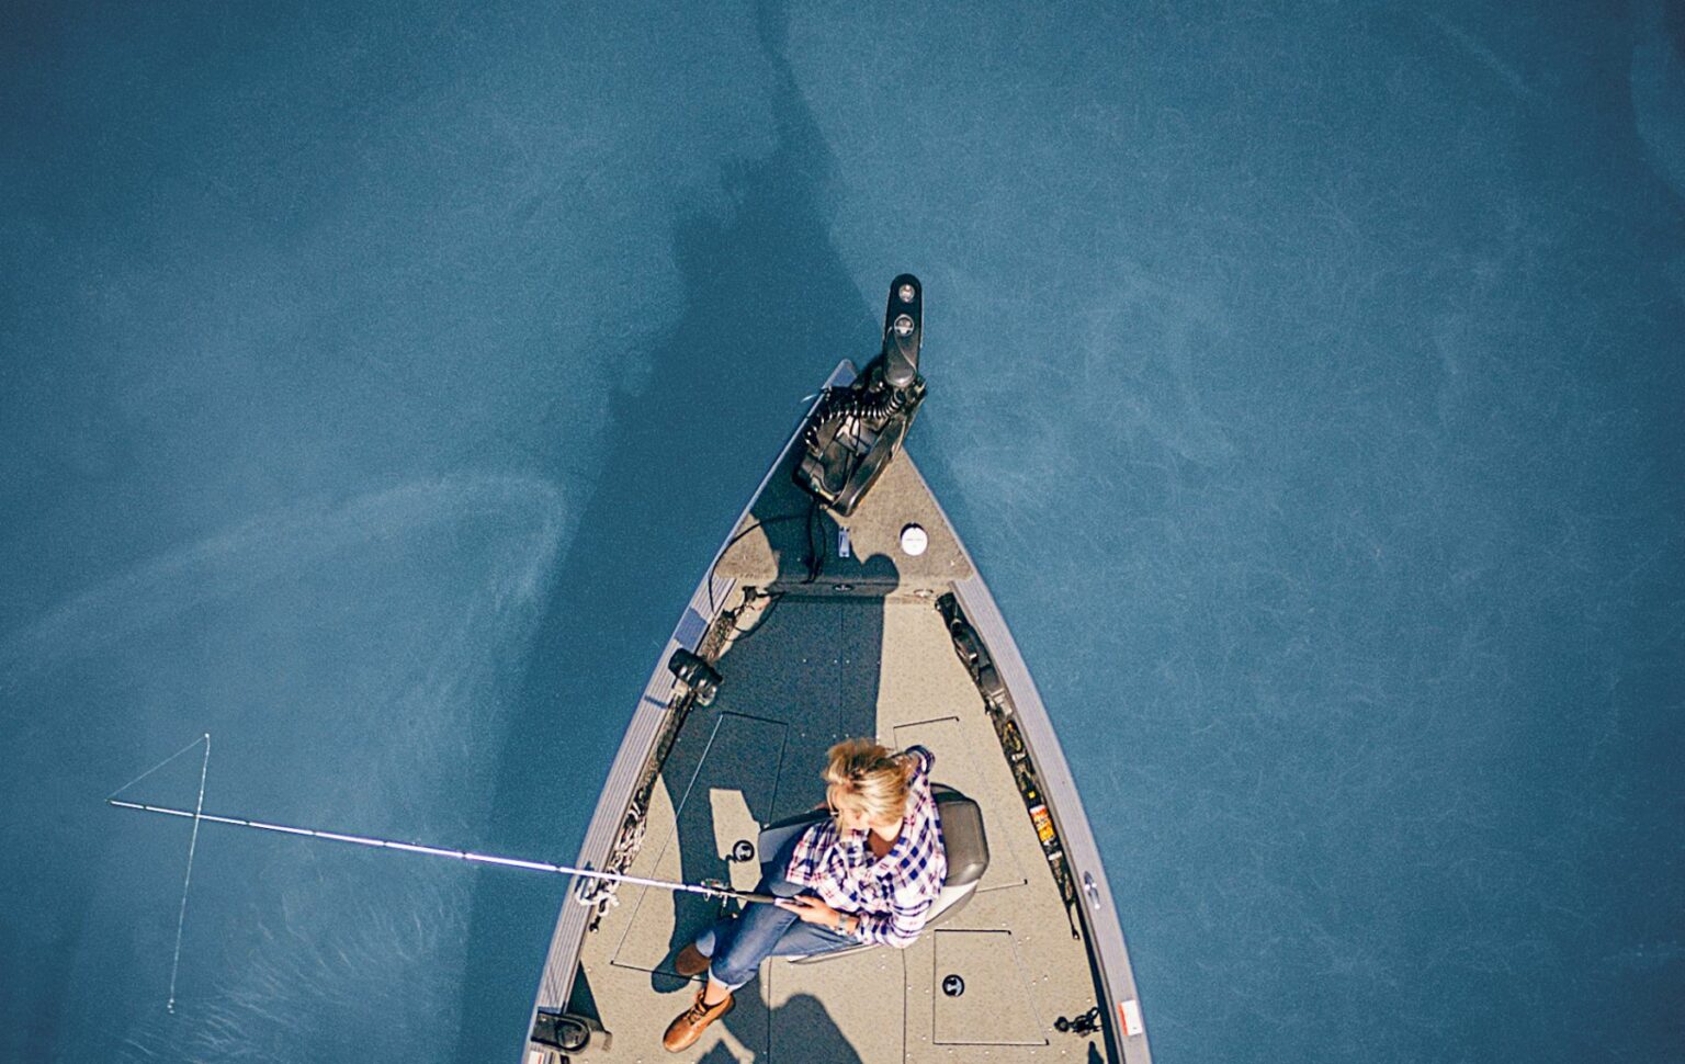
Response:
[{"label": "black trolling motor mounted at the tip of the bow", "polygon": [[918,375],[923,290],[910,273],[890,281],[883,348],[848,387],[827,387],[802,429],[795,483],[842,517],[895,458],[925,397]]}]

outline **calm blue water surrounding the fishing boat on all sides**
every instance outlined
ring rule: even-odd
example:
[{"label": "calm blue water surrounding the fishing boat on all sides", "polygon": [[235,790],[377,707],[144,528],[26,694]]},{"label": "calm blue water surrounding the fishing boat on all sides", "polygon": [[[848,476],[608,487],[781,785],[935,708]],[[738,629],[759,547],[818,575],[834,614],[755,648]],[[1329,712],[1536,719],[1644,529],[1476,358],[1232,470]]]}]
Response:
[{"label": "calm blue water surrounding the fishing boat on all sides", "polygon": [[0,1059],[514,1059],[559,884],[207,828],[170,1015],[101,798],[571,857],[901,269],[1158,1059],[1685,1059],[1680,8],[349,7],[0,15]]}]

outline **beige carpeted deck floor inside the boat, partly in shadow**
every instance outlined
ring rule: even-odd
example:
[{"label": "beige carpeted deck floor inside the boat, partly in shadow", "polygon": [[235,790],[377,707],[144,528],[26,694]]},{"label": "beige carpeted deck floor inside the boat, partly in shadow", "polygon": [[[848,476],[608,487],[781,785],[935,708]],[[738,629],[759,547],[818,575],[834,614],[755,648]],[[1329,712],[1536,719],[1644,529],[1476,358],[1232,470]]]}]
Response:
[{"label": "beige carpeted deck floor inside the boat, partly in shadow", "polygon": [[[1073,936],[982,697],[933,604],[949,579],[969,576],[969,562],[957,544],[949,549],[952,534],[905,455],[849,522],[851,557],[837,554],[831,519],[821,522],[822,579],[809,579],[817,537],[804,527],[805,512],[794,487],[785,492],[773,478],[721,557],[718,574],[736,588],[782,596],[718,660],[725,682],[713,705],[694,707],[684,721],[652,791],[630,874],[725,879],[752,889],[758,854],[731,860],[733,849],[753,843],[762,823],[821,803],[826,749],[851,736],[932,749],[935,779],[982,808],[989,869],[960,912],[907,950],[765,961],[738,992],[736,1008],[682,1054],[667,1054],[661,1037],[698,983],[674,975],[672,960],[719,904],[627,886],[585,938],[573,995],[590,1002],[612,1039],[593,1040],[573,1059],[1104,1057],[1100,1034],[1055,1027],[1095,1005],[1089,955]],[[891,545],[908,513],[930,530],[932,549],[918,559],[896,557]],[[954,975],[964,992],[944,993]]]}]

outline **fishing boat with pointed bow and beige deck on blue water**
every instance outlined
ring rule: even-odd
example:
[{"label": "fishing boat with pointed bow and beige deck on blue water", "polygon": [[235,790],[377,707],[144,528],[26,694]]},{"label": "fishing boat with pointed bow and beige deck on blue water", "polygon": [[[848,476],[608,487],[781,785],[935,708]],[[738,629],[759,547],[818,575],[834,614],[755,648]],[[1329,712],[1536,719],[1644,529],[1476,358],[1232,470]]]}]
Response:
[{"label": "fishing boat with pointed bow and beige deck on blue water", "polygon": [[[1151,1054],[1100,854],[999,608],[903,446],[923,288],[826,380],[655,663],[551,936],[524,1064],[1110,1061]],[[831,744],[935,754],[949,875],[907,948],[763,961],[682,1054],[679,948],[822,798]],[[637,880],[716,886],[674,892]]]}]

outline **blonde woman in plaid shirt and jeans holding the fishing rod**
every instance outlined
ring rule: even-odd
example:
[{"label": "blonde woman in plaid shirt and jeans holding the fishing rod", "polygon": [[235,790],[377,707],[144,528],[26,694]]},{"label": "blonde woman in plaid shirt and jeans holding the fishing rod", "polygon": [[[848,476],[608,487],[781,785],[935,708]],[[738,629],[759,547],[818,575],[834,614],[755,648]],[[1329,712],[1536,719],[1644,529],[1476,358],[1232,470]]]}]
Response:
[{"label": "blonde woman in plaid shirt and jeans holding the fishing rod", "polygon": [[831,818],[767,862],[755,887],[784,901],[748,904],[740,918],[703,931],[674,961],[679,975],[708,971],[708,982],[667,1027],[662,1044],[669,1051],[693,1045],[731,1012],[733,992],[768,956],[913,944],[947,879],[932,764],[935,754],[922,746],[895,754],[873,739],[848,739],[831,747],[824,771]]}]

